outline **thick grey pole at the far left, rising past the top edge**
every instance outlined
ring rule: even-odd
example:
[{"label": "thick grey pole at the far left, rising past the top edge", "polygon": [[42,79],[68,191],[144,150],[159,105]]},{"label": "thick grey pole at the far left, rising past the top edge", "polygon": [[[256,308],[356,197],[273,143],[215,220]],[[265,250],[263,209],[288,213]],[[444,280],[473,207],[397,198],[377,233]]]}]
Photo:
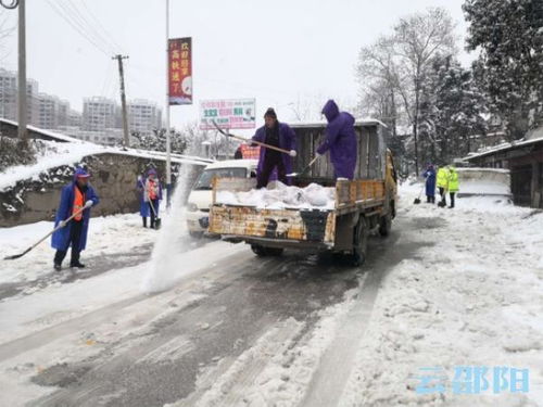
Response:
[{"label": "thick grey pole at the far left, rising past the top edge", "polygon": [[28,133],[26,131],[26,24],[25,24],[25,0],[11,0],[11,3],[5,3],[0,0],[0,5],[8,10],[13,10],[18,7],[18,67],[17,67],[17,136],[18,139],[26,144],[28,142]]}]

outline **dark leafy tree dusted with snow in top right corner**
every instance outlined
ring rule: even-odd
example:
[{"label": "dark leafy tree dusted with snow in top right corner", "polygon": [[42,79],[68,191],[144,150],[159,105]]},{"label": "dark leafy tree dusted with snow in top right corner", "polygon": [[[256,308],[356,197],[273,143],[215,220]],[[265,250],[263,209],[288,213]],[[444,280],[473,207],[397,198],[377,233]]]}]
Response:
[{"label": "dark leafy tree dusted with snow in top right corner", "polygon": [[466,0],[476,76],[510,139],[543,124],[543,1]]}]

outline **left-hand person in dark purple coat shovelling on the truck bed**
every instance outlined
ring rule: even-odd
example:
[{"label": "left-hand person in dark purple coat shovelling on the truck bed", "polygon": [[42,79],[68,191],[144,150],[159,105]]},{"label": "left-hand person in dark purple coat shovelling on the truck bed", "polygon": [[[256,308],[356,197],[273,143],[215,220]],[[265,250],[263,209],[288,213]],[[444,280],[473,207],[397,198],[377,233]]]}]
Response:
[{"label": "left-hand person in dark purple coat shovelling on the truck bed", "polygon": [[277,179],[289,185],[287,174],[292,171],[292,157],[296,156],[296,135],[285,123],[277,120],[275,111],[269,107],[264,114],[264,123],[253,136],[254,141],[274,145],[290,151],[290,154],[277,150],[261,147],[258,166],[256,168],[256,188],[265,188],[270,180],[274,169],[277,170]]}]

